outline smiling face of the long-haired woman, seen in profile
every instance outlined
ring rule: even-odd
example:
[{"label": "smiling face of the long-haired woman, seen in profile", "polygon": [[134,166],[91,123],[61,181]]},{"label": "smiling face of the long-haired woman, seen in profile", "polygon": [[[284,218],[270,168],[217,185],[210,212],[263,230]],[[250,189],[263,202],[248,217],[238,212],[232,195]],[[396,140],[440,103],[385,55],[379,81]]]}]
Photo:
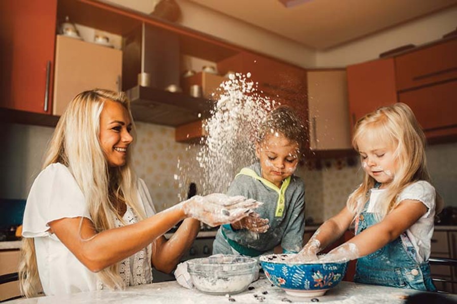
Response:
[{"label": "smiling face of the long-haired woman, seen in profile", "polygon": [[105,102],[100,115],[100,143],[110,167],[125,165],[127,148],[133,141],[132,122],[119,102]]}]

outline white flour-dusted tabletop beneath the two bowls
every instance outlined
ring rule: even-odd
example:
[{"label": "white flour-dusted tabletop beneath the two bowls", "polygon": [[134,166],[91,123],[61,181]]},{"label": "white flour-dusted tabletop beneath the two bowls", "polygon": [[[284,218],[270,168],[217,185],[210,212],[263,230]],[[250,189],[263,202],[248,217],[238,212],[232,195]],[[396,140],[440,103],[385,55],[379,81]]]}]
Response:
[{"label": "white flour-dusted tabletop beneath the two bowls", "polygon": [[[185,289],[176,281],[154,283],[137,287],[129,287],[123,291],[92,291],[75,293],[61,296],[43,296],[29,299],[9,301],[10,304],[54,304],[54,303],[97,303],[97,304],[123,304],[123,303],[164,303],[164,304],[187,304],[187,303],[271,303],[284,304],[311,302],[311,298],[291,297],[282,289],[272,287],[265,276],[250,284],[252,290],[246,290],[239,294],[231,295],[210,295],[199,290]],[[266,294],[264,294],[267,292]],[[341,304],[382,304],[382,303],[404,303],[405,299],[418,291],[411,289],[400,289],[375,285],[356,284],[352,282],[341,282],[335,288],[329,290],[325,295],[318,297],[319,302],[333,302]],[[256,296],[254,296],[256,295]],[[264,297],[261,301],[258,297]],[[457,301],[457,295],[446,295],[446,297]]]}]

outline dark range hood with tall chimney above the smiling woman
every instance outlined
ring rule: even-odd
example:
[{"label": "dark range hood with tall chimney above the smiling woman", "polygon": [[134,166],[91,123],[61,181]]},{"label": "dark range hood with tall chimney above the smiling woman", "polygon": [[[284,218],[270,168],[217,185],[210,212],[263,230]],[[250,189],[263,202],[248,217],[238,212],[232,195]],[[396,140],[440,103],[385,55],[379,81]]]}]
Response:
[{"label": "dark range hood with tall chimney above the smiling woman", "polygon": [[[209,116],[211,101],[165,90],[180,86],[179,44],[176,33],[144,23],[124,37],[122,88],[127,88],[135,121],[179,126]],[[139,73],[150,75],[150,86],[138,85]]]}]

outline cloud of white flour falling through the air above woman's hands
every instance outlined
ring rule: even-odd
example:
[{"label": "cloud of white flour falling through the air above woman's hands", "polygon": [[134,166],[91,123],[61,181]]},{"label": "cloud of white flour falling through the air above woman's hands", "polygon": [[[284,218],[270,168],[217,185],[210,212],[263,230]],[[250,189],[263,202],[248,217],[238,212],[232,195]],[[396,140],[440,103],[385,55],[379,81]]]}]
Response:
[{"label": "cloud of white flour falling through the air above woman's hands", "polygon": [[[218,100],[203,124],[207,136],[188,148],[197,149],[194,153],[198,168],[178,161],[180,174],[175,179],[180,188],[192,180],[197,183],[199,194],[225,193],[241,168],[255,161],[258,126],[279,104],[259,93],[262,92],[257,92],[250,73],[232,74],[220,85]],[[179,199],[183,197],[180,195]]]}]

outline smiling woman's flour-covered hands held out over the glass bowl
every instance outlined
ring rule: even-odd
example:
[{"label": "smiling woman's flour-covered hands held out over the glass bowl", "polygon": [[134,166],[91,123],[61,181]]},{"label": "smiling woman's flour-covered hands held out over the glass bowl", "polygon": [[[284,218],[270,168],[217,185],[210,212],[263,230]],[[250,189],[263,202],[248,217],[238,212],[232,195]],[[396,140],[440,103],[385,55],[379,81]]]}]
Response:
[{"label": "smiling woman's flour-covered hands held out over the glass bowl", "polygon": [[243,196],[229,197],[214,193],[204,197],[194,196],[181,204],[187,216],[201,220],[210,226],[217,226],[238,221],[263,203]]}]

